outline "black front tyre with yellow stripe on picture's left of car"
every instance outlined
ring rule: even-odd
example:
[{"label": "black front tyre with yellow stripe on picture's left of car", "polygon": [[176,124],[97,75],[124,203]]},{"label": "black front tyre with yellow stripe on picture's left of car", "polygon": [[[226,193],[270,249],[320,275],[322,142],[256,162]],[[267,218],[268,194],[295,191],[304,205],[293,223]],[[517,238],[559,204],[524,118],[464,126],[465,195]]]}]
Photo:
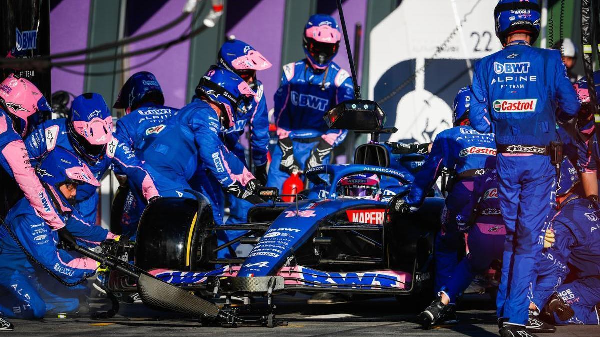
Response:
[{"label": "black front tyre with yellow stripe on picture's left of car", "polygon": [[144,270],[197,270],[204,228],[212,225],[212,207],[203,196],[152,201],[137,228],[136,265]]}]

